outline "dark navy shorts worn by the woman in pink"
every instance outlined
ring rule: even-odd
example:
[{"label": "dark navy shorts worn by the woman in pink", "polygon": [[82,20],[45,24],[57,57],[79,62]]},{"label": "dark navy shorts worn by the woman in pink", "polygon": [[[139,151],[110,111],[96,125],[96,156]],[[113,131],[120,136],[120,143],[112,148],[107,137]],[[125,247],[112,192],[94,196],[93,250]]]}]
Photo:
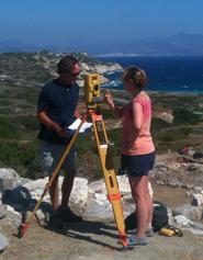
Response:
[{"label": "dark navy shorts worn by the woman in pink", "polygon": [[131,177],[148,176],[155,163],[155,154],[156,152],[153,151],[147,155],[122,155],[120,171]]}]

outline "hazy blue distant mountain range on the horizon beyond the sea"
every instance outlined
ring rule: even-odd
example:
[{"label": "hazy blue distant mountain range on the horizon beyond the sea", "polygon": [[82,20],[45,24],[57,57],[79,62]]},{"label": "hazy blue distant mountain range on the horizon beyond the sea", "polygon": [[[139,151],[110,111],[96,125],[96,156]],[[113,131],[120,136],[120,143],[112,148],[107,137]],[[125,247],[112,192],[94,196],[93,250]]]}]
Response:
[{"label": "hazy blue distant mountain range on the horizon beyond the sea", "polygon": [[101,43],[76,43],[64,45],[34,45],[22,43],[21,41],[0,42],[0,53],[11,52],[38,52],[47,49],[53,53],[84,52],[90,56],[202,56],[203,55],[203,35],[180,33],[166,37],[136,38],[132,42],[109,42]]}]

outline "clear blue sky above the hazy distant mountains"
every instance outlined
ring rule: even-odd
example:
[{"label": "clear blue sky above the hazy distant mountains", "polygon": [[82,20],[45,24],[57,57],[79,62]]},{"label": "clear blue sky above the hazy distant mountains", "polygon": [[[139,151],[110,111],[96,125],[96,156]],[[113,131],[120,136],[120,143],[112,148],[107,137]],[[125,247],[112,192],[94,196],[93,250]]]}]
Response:
[{"label": "clear blue sky above the hazy distant mountains", "polygon": [[1,0],[0,42],[129,42],[203,34],[202,0]]}]

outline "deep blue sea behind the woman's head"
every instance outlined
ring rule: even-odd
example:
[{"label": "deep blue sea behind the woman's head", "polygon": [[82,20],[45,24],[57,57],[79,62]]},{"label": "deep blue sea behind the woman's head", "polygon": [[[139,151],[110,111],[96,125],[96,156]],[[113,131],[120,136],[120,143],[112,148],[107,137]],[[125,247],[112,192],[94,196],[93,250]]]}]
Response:
[{"label": "deep blue sea behind the woman's head", "polygon": [[[148,91],[203,93],[203,57],[97,57],[122,67],[143,68],[149,79]],[[105,75],[110,83],[104,88],[123,89],[121,71]]]}]

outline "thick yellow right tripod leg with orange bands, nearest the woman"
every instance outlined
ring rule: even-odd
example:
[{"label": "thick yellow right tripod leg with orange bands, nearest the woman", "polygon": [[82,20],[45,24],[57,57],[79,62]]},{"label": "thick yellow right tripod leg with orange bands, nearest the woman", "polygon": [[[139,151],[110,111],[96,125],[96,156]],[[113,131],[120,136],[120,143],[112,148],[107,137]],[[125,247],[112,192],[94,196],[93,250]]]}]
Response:
[{"label": "thick yellow right tripod leg with orange bands, nearest the woman", "polygon": [[127,238],[126,238],[126,233],[125,233],[125,224],[124,224],[124,216],[123,216],[123,207],[121,203],[121,194],[119,191],[119,184],[115,176],[115,170],[113,166],[113,160],[110,151],[110,144],[108,140],[108,135],[105,131],[105,125],[102,120],[102,117],[99,120],[102,124],[102,132],[104,135],[105,143],[101,144],[100,137],[98,134],[98,127],[97,127],[97,120],[94,120],[94,116],[92,116],[92,122],[93,122],[93,131],[94,131],[94,136],[97,140],[97,146],[99,150],[99,156],[101,160],[101,166],[104,174],[104,180],[105,180],[105,185],[108,190],[108,196],[109,200],[112,204],[113,207],[113,213],[114,213],[114,219],[116,223],[116,227],[119,230],[119,236],[121,239],[121,242],[124,248],[127,247]]}]

